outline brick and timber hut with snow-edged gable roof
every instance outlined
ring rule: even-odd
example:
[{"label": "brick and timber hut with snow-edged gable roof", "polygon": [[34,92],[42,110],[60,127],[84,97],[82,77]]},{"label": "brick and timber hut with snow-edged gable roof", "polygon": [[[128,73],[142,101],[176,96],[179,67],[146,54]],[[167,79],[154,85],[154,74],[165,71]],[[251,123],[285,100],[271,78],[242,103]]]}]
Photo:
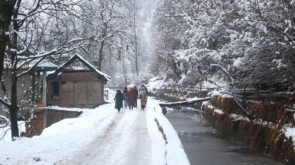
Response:
[{"label": "brick and timber hut with snow-edged gable roof", "polygon": [[[78,60],[87,69],[73,69]],[[104,101],[104,85],[112,78],[75,54],[47,76],[47,106],[95,108]]]}]

